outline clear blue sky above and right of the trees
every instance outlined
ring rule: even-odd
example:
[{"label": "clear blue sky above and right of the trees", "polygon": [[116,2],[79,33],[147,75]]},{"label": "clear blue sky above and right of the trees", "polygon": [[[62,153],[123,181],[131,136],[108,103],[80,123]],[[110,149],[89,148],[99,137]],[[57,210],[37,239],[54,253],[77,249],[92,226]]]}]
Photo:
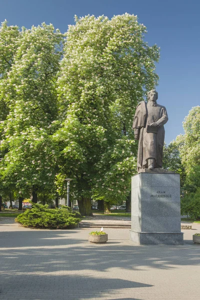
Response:
[{"label": "clear blue sky above and right of the trees", "polygon": [[73,24],[74,14],[137,14],[147,27],[145,40],[160,47],[158,103],[167,109],[165,141],[183,133],[182,121],[191,107],[200,105],[199,0],[0,0],[0,21],[30,28],[52,23],[61,32]]}]

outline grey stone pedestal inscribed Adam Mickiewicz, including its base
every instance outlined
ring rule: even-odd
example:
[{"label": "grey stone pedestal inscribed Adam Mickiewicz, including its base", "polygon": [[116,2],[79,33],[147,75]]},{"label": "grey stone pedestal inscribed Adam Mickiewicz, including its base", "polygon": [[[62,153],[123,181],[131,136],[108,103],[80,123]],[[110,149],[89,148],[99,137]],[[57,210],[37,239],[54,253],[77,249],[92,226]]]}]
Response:
[{"label": "grey stone pedestal inscribed Adam Mickiewicz, including its base", "polygon": [[179,174],[141,172],[131,178],[131,229],[135,244],[183,244]]}]

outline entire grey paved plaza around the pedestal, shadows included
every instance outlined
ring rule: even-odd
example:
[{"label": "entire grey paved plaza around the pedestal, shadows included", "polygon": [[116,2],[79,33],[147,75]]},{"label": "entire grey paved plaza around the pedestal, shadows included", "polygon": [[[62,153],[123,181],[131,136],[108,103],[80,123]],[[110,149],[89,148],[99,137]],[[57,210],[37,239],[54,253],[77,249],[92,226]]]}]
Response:
[{"label": "entire grey paved plaza around the pedestal, shadows included", "polygon": [[0,299],[199,300],[200,244],[135,246],[128,228],[106,228],[108,242],[87,241],[91,228],[23,228],[0,219]]}]

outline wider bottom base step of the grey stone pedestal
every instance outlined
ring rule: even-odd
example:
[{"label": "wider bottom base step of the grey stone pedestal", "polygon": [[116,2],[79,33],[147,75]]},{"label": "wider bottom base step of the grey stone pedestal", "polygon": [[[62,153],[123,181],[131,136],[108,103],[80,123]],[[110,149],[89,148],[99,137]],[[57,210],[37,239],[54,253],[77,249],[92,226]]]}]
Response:
[{"label": "wider bottom base step of the grey stone pedestal", "polygon": [[133,230],[129,230],[129,239],[137,245],[183,245],[182,232],[135,232]]}]

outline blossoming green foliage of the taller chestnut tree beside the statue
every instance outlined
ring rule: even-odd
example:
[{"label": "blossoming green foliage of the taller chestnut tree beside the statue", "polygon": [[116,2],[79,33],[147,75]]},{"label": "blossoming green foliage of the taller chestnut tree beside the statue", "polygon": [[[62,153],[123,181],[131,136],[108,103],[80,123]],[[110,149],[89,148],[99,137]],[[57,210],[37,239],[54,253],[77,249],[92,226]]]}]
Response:
[{"label": "blossoming green foliage of the taller chestnut tree beside the statue", "polygon": [[[132,134],[135,107],[157,83],[159,50],[143,41],[146,27],[130,14],[75,17],[66,33],[58,78],[60,128],[54,133],[62,163],[60,178],[73,179],[71,193],[88,207],[125,197],[136,170]],[[122,195],[122,196],[121,196]],[[86,204],[87,203],[87,204]]]}]

